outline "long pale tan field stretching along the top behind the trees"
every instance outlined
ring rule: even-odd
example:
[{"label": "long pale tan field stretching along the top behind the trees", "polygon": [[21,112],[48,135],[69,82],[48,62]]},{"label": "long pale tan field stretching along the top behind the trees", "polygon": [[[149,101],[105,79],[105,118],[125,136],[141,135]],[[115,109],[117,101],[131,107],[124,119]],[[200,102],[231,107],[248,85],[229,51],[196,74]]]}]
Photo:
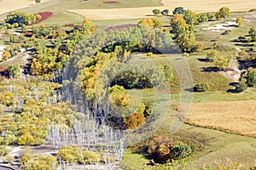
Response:
[{"label": "long pale tan field stretching along the top behind the trees", "polygon": [[[221,7],[229,7],[230,11],[248,11],[256,8],[256,0],[163,0],[164,6],[141,7],[141,8],[108,8],[108,9],[72,9],[68,10],[76,14],[83,15],[91,20],[120,20],[120,19],[140,19],[152,15],[154,8],[160,10],[168,8],[170,12],[175,7],[189,8],[196,13],[216,12]],[[152,16],[151,16],[152,17]]]}]

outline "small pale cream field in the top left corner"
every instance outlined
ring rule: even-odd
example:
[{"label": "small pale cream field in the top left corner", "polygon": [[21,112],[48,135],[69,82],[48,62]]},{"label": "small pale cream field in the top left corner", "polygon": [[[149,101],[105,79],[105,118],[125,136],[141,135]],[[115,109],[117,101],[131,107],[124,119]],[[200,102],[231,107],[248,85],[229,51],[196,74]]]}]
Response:
[{"label": "small pale cream field in the top left corner", "polygon": [[[49,0],[42,0],[41,3]],[[34,0],[2,0],[0,1],[0,14],[36,5]]]}]

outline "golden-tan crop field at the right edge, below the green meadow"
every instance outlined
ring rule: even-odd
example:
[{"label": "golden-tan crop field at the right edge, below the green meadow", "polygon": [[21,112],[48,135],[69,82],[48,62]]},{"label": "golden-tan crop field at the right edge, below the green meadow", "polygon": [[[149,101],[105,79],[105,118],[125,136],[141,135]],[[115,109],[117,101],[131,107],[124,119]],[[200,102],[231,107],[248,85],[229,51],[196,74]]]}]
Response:
[{"label": "golden-tan crop field at the right edge, below the green meadow", "polygon": [[256,100],[193,104],[186,122],[256,137]]}]

